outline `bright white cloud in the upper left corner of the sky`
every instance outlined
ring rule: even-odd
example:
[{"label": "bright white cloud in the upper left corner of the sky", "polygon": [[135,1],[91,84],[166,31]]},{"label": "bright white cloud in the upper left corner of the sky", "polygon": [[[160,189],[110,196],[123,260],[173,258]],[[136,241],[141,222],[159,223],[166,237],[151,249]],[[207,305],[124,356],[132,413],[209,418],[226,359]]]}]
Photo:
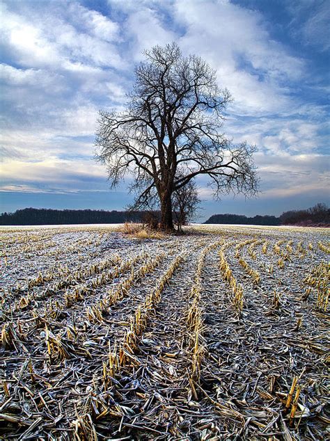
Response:
[{"label": "bright white cloud in the upper left corner of the sky", "polygon": [[[64,6],[64,4],[63,4]],[[78,10],[76,10],[78,8]],[[69,63],[86,63],[123,68],[118,49],[110,40],[118,25],[93,10],[70,5],[70,22],[55,13],[42,14],[38,8],[24,10],[27,16],[3,12],[2,45],[10,48],[15,60],[28,67],[63,68]],[[58,13],[58,10],[56,10]],[[76,29],[74,18],[83,15],[87,29]],[[71,14],[71,16],[70,16]],[[81,23],[80,23],[81,24]],[[82,23],[84,24],[84,22]]]}]

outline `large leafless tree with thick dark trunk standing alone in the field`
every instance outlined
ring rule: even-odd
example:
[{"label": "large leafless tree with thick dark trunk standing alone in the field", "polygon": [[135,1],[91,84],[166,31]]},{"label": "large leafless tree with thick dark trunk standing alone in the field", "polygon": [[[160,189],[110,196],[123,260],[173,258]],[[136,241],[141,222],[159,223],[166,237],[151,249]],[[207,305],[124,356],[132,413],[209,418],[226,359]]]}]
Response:
[{"label": "large leafless tree with thick dark trunk standing alone in the field", "polygon": [[107,166],[111,187],[132,175],[135,207],[156,196],[164,230],[173,230],[173,192],[198,175],[207,175],[217,199],[255,194],[256,147],[234,145],[221,131],[231,97],[216,72],[198,56],[182,56],[175,42],[144,54],[125,111],[100,111],[97,120],[95,156]]}]

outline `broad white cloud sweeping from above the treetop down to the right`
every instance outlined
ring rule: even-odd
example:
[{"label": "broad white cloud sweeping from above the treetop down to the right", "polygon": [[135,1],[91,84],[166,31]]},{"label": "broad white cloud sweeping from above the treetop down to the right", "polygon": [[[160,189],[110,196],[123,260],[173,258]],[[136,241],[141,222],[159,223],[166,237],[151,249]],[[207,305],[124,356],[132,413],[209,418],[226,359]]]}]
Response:
[{"label": "broad white cloud sweeping from above the treetop down to the right", "polygon": [[143,49],[178,41],[185,54],[201,55],[217,70],[219,83],[235,98],[231,111],[260,115],[292,106],[283,83],[304,77],[304,61],[270,38],[258,12],[228,1],[115,5],[127,15],[124,26],[134,61],[141,61]]}]

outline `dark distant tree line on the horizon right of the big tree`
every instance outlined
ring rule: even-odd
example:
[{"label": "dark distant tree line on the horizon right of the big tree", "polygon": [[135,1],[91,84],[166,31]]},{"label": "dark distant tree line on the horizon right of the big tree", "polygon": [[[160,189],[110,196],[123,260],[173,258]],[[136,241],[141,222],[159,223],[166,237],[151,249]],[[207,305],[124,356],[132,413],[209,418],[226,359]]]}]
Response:
[{"label": "dark distant tree line on the horizon right of the big tree", "polygon": [[205,223],[229,223],[243,225],[330,225],[330,209],[325,204],[316,204],[304,210],[284,211],[280,217],[241,214],[214,214]]}]

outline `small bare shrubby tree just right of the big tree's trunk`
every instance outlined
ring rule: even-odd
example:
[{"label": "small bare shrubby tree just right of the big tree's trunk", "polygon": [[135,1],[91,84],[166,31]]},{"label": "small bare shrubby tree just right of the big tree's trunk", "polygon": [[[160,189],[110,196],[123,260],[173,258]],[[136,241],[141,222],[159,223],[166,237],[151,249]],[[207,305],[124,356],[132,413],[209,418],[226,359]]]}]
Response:
[{"label": "small bare shrubby tree just right of the big tree's trunk", "polygon": [[198,198],[198,189],[193,180],[189,181],[180,189],[173,191],[172,208],[173,220],[178,225],[178,231],[182,232],[182,226],[187,225],[189,220],[196,216],[198,205],[201,203]]}]

